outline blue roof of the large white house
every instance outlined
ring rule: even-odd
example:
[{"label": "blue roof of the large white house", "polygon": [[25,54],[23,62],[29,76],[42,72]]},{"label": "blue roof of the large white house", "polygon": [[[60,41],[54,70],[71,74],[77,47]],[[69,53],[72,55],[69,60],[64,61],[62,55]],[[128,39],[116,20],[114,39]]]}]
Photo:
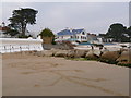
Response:
[{"label": "blue roof of the large white house", "polygon": [[80,34],[84,29],[64,29],[57,33],[58,36]]}]

